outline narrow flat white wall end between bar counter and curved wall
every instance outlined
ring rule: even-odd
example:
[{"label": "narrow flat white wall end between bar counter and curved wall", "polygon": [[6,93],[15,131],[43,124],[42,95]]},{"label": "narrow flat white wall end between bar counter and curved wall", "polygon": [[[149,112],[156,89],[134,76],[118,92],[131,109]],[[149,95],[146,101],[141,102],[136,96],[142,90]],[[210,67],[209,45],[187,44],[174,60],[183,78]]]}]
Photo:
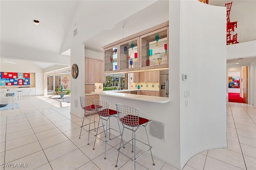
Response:
[{"label": "narrow flat white wall end between bar counter and curved wall", "polygon": [[[180,0],[169,1],[169,98],[171,100],[168,110],[171,116],[167,121],[171,126],[166,126],[166,136],[172,136],[168,141],[174,150],[170,157],[166,157],[169,164],[182,169],[180,162]],[[164,109],[163,109],[164,110]],[[167,110],[165,110],[167,111]],[[175,122],[175,123],[173,123]]]}]

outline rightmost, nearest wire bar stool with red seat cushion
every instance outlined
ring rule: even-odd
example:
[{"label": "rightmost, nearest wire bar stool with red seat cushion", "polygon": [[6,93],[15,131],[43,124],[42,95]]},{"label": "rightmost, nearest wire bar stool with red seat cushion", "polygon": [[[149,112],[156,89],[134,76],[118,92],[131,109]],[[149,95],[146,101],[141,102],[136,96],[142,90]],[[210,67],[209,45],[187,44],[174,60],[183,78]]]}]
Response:
[{"label": "rightmost, nearest wire bar stool with red seat cushion", "polygon": [[[142,155],[146,154],[146,152],[148,152],[149,150],[150,150],[150,153],[151,153],[153,165],[155,165],[153,155],[152,155],[152,151],[151,151],[152,146],[150,146],[149,140],[148,140],[148,144],[147,144],[147,143],[144,143],[144,142],[139,141],[138,139],[136,139],[136,131],[138,130],[138,128],[139,127],[144,127],[145,131],[146,131],[146,125],[148,125],[148,123],[150,123],[152,121],[148,120],[148,119],[145,119],[145,118],[142,118],[142,117],[139,117],[139,111],[138,111],[138,109],[136,109],[134,107],[126,106],[126,105],[123,105],[123,104],[116,104],[116,111],[118,112],[118,118],[122,122],[122,125],[123,125],[123,131],[122,131],[122,135],[121,135],[120,146],[119,146],[119,149],[117,149],[118,156],[117,156],[117,160],[116,160],[116,167],[117,167],[117,163],[118,163],[119,154],[121,153],[122,155],[126,156],[126,158],[128,158],[132,162],[134,162],[134,170],[135,170],[136,169],[136,160],[138,158],[140,158]],[[130,158],[129,156],[127,156],[126,154],[124,154],[120,150],[121,149],[121,144],[123,142],[124,129],[128,129],[128,130],[132,131],[132,139],[130,141],[132,141],[132,152],[134,152],[134,159]],[[147,139],[148,139],[147,131],[146,131],[146,136],[147,136]],[[125,146],[130,141],[126,142],[123,146]],[[146,150],[144,153],[140,154],[139,156],[136,156],[136,142],[137,141],[149,147],[148,150]],[[134,148],[133,148],[133,145],[134,145]]]}]

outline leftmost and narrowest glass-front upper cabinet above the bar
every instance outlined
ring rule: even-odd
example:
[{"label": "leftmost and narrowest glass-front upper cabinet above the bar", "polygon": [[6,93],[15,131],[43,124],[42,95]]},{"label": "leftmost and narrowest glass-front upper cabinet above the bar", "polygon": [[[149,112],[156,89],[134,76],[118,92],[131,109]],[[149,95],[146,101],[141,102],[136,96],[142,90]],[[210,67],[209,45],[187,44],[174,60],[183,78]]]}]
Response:
[{"label": "leftmost and narrowest glass-front upper cabinet above the bar", "polygon": [[118,45],[108,47],[104,50],[105,72],[118,72]]}]

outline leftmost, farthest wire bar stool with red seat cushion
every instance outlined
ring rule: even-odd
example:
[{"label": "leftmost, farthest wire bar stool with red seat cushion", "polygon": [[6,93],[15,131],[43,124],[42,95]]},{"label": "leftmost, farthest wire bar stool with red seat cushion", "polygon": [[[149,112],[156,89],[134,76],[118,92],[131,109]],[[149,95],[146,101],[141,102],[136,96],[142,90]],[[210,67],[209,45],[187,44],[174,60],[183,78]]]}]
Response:
[{"label": "leftmost, farthest wire bar stool with red seat cushion", "polygon": [[[81,103],[82,109],[84,109],[84,118],[86,117],[86,112],[88,112],[90,114],[89,123],[86,124],[86,125],[89,125],[89,129],[88,130],[84,129],[86,132],[88,132],[88,144],[87,145],[89,145],[90,131],[92,131],[92,130],[96,131],[95,130],[96,129],[95,128],[95,115],[94,115],[94,113],[95,113],[95,105],[92,104],[92,100],[86,99],[84,96],[80,96],[80,103]],[[94,117],[94,121],[93,122],[91,122],[91,115],[92,115],[92,113],[93,113],[93,117]],[[94,129],[90,129],[91,123],[94,123]],[[83,126],[86,126],[86,125],[84,125],[84,119],[83,119],[79,139],[81,137],[82,128],[83,128]]]}]

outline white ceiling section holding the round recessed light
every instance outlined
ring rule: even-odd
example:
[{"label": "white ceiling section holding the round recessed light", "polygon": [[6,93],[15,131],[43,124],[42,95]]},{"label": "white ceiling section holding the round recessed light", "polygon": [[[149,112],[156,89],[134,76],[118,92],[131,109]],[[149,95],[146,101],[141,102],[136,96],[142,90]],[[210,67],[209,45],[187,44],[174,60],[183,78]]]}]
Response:
[{"label": "white ceiling section holding the round recessed light", "polygon": [[[1,43],[60,54],[77,1],[1,0]],[[40,21],[35,25],[32,21]]]}]

